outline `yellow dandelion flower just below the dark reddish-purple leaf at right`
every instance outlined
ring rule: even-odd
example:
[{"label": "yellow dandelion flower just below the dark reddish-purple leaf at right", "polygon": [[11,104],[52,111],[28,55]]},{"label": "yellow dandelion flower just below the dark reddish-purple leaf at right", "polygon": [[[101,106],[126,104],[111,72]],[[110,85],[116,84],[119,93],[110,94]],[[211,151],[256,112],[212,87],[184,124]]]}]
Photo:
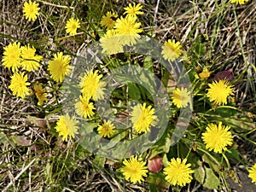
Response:
[{"label": "yellow dandelion flower just below the dark reddish-purple leaf at right", "polygon": [[207,89],[207,97],[209,97],[210,102],[214,102],[217,105],[227,104],[228,96],[234,95],[232,85],[229,85],[226,79],[218,80],[218,82],[214,81],[209,84],[209,87]]}]

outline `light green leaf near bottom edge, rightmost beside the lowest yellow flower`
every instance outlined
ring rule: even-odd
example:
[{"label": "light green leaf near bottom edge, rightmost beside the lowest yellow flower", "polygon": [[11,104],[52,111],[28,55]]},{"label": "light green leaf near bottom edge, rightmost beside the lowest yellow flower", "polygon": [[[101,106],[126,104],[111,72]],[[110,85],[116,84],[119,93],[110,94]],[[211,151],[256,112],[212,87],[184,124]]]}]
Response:
[{"label": "light green leaf near bottom edge, rightmost beside the lowest yellow flower", "polygon": [[203,186],[208,189],[218,189],[218,186],[220,185],[218,177],[214,174],[211,168],[205,166],[205,171],[207,177]]}]

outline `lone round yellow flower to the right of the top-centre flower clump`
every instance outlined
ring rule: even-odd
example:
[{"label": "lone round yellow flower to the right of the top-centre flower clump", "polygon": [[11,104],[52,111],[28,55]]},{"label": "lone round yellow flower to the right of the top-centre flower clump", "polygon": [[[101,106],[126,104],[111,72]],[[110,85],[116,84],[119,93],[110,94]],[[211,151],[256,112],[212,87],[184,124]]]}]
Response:
[{"label": "lone round yellow flower to the right of the top-centre flower clump", "polygon": [[182,54],[182,52],[183,50],[181,44],[178,41],[175,43],[174,39],[169,39],[162,46],[162,55],[167,61],[176,60]]}]

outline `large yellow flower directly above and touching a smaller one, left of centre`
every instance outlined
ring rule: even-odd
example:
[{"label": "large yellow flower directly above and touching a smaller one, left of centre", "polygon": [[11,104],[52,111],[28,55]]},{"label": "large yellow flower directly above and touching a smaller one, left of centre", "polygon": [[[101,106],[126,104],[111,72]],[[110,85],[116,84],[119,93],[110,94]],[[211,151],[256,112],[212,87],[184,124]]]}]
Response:
[{"label": "large yellow flower directly above and touching a smaller one, left of centre", "polygon": [[79,84],[83,96],[92,97],[95,101],[104,98],[103,91],[105,90],[106,83],[101,81],[102,76],[102,74],[98,75],[98,70],[93,72],[93,69],[91,69],[89,72],[85,72]]}]

